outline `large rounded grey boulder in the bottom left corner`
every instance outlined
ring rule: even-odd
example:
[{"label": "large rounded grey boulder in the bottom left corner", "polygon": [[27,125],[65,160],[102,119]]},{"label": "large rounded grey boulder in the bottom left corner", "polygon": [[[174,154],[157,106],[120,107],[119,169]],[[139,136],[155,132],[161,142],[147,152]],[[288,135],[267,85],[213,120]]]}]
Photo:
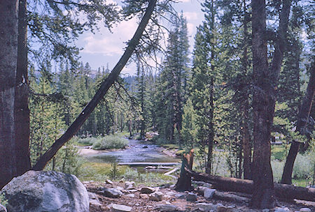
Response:
[{"label": "large rounded grey boulder in the bottom left corner", "polygon": [[89,211],[84,185],[72,174],[29,171],[3,187],[9,212]]}]

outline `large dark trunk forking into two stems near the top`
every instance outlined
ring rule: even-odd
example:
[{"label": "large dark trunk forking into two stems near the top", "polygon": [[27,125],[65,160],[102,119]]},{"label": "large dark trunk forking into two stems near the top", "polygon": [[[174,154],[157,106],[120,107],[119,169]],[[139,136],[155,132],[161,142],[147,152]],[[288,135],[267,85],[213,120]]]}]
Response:
[{"label": "large dark trunk forking into two stems near the top", "polygon": [[253,31],[253,197],[251,206],[258,209],[273,208],[274,183],[270,165],[270,133],[276,104],[276,86],[286,45],[288,15],[292,0],[283,0],[279,14],[279,29],[275,40],[272,63],[267,61],[265,0],[252,0]]}]

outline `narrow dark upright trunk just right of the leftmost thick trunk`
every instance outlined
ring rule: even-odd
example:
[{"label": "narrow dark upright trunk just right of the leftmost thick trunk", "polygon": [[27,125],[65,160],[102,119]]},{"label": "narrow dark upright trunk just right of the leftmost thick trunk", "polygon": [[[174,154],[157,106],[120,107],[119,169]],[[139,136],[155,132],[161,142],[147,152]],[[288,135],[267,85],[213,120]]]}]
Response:
[{"label": "narrow dark upright trunk just right of the leftmost thick trunk", "polygon": [[15,76],[14,124],[18,176],[31,168],[29,157],[29,89],[27,77],[27,1],[19,2],[18,62]]}]

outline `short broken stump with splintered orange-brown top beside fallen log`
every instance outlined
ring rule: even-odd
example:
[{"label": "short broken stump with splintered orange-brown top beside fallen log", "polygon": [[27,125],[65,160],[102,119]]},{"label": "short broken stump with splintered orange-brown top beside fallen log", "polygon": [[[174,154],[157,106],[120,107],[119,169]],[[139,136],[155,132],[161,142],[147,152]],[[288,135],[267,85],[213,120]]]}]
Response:
[{"label": "short broken stump with splintered orange-brown top beside fallen log", "polygon": [[181,175],[176,183],[175,190],[186,191],[192,190],[191,186],[191,174],[186,172],[186,169],[191,170],[193,168],[194,150],[190,150],[189,154],[183,155],[183,162],[181,164]]}]

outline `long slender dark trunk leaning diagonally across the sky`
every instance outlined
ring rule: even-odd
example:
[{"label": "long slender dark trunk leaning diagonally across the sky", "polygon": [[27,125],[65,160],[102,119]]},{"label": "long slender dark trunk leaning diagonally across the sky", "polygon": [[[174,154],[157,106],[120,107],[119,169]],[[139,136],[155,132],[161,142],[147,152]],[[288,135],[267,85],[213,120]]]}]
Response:
[{"label": "long slender dark trunk leaning diagonally across the sky", "polygon": [[155,8],[156,0],[151,0],[148,4],[148,8],[146,8],[146,13],[144,14],[144,17],[142,18],[137,31],[134,33],[134,36],[128,43],[127,49],[125,50],[123,56],[121,56],[120,60],[116,64],[116,66],[113,68],[111,74],[109,74],[109,77],[107,77],[104,82],[101,84],[99,90],[97,90],[97,93],[95,93],[92,100],[90,100],[90,103],[88,103],[85,108],[83,109],[83,112],[79,114],[79,116],[76,118],[76,120],[71,124],[71,126],[64,132],[64,135],[57,139],[52,146],[46,151],[41,158],[38,159],[34,167],[32,169],[34,170],[42,170],[45,165],[48,163],[48,161],[55,156],[55,153],[67,142],[71,137],[73,137],[76,132],[78,132],[80,126],[83,125],[85,120],[88,116],[92,113],[94,108],[97,106],[100,100],[104,97],[106,92],[109,90],[111,85],[115,82],[115,80],[118,78],[118,75],[120,74],[120,71],[123,69],[125,64],[127,63],[128,59],[130,59],[130,56],[132,55],[132,52],[134,52],[135,47],[139,43],[139,39],[142,36],[142,33],[144,32],[144,29],[146,28],[146,25],[148,24],[148,21],[150,20],[151,14],[153,13],[153,10]]}]

